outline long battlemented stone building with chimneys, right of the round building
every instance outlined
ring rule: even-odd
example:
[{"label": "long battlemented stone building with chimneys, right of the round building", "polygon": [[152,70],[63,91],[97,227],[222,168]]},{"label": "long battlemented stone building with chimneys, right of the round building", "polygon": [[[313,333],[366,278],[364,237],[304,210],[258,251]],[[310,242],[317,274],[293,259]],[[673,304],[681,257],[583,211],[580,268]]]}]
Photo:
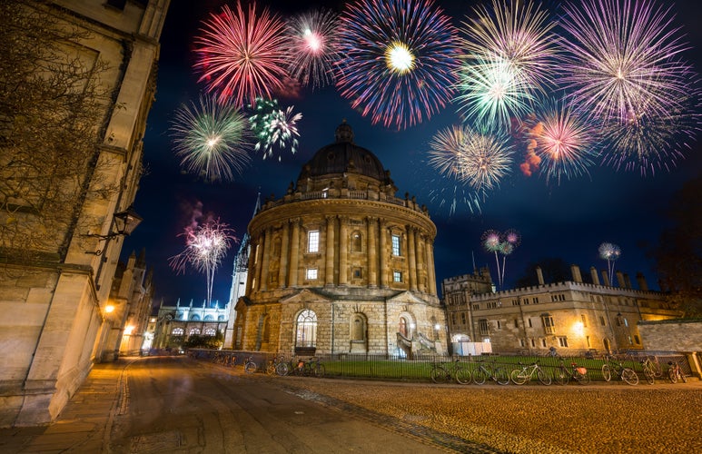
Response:
[{"label": "long battlemented stone building with chimneys, right of the round building", "polygon": [[451,341],[489,341],[497,352],[545,354],[555,348],[561,354],[593,351],[641,350],[639,324],[673,319],[665,296],[639,287],[619,273],[620,286],[583,282],[577,266],[573,281],[493,292],[487,270],[443,281]]}]

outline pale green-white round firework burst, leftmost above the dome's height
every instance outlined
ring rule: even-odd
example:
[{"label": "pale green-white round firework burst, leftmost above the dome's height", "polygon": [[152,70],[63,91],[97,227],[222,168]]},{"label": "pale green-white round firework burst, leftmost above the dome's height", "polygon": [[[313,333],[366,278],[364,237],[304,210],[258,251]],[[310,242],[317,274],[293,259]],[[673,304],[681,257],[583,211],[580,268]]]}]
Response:
[{"label": "pale green-white round firework burst, leftmost above the dome's height", "polygon": [[182,104],[171,126],[175,154],[181,167],[206,181],[233,179],[251,157],[249,124],[233,104],[201,97],[200,104]]}]

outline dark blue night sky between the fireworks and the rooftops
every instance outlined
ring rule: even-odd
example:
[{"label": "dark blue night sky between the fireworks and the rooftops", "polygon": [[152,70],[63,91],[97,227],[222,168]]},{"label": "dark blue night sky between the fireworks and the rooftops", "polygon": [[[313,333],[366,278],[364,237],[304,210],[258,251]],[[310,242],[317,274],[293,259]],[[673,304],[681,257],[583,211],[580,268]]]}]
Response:
[{"label": "dark blue night sky between the fireworks and the rooftops", "polygon": [[[599,270],[607,269],[607,262],[598,257],[598,246],[613,242],[622,252],[616,268],[628,273],[635,286],[634,277],[641,271],[649,287],[658,289],[654,263],[646,258],[640,244],[658,243],[658,235],[667,226],[663,213],[671,197],[683,183],[702,171],[700,134],[672,172],[659,171],[648,177],[642,177],[638,171],[615,171],[597,164],[590,168],[589,175],[547,184],[543,177],[525,177],[520,173],[519,149],[510,175],[480,203],[480,212],[470,212],[465,205],[459,205],[457,212],[450,214],[440,207],[440,198],[431,197],[430,190],[445,187],[450,192],[453,185],[441,179],[424,160],[431,137],[460,122],[455,105],[449,104],[430,121],[397,132],[371,125],[371,119],[351,109],[349,100],[333,86],[314,91],[303,88],[299,98],[278,97],[282,106],[294,105],[294,111],[302,113],[298,122],[298,153],[283,153],[281,162],[262,160],[260,153],[254,154],[252,165],[232,183],[203,183],[183,173],[173,154],[173,134],[169,128],[181,104],[197,102],[205,93],[205,86],[198,84],[198,74],[192,69],[193,37],[201,21],[218,12],[224,3],[173,0],[163,28],[156,100],[144,137],[146,173],[134,202],[134,209],[144,221],[126,238],[122,251],[124,261],[131,252],[145,248],[147,265],[154,272],[156,303],[163,298],[164,304],[174,304],[180,298],[184,303],[193,299],[202,304],[205,298],[204,274],[189,269],[177,275],[168,264],[169,257],[185,248],[179,234],[191,222],[193,207],[198,202],[202,202],[205,215],[212,214],[229,224],[241,238],[251,220],[257,193],[261,192],[262,201],[271,194],[276,199],[282,197],[288,184],[297,180],[302,165],[323,145],[334,141],[334,131],[344,119],[353,129],[355,143],[375,153],[391,171],[391,178],[399,188],[397,196],[404,197],[409,192],[429,207],[438,228],[434,257],[439,286],[445,278],[471,272],[473,260],[479,267],[489,265],[496,280],[494,256],[481,248],[480,236],[487,229],[512,228],[521,233],[522,241],[507,257],[506,288],[522,275],[529,262],[546,257],[578,264],[583,275],[593,265]],[[440,2],[456,26],[471,14],[473,4]],[[341,11],[343,2],[267,5],[273,12],[286,16],[306,11],[311,5],[327,5]],[[550,11],[557,8],[550,6],[551,2],[547,5]],[[697,2],[676,2],[673,11],[675,24],[683,27],[691,46],[684,58],[695,64],[699,74],[702,38]],[[238,243],[232,246],[215,276],[213,300],[221,304],[229,298],[232,261],[238,247]]]}]

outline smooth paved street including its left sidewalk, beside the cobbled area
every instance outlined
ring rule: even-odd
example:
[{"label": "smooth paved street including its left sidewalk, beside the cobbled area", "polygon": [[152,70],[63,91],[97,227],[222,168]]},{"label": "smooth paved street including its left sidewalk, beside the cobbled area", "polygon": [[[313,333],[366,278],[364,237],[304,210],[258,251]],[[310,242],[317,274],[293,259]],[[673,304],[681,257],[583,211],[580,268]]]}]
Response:
[{"label": "smooth paved street including its left sidewalk, beside the cobbled area", "polygon": [[0,451],[497,452],[432,429],[389,424],[379,414],[240,368],[185,357],[147,357],[124,366],[94,370],[112,372],[112,394],[109,377],[91,373],[92,380],[43,433],[0,430]]}]

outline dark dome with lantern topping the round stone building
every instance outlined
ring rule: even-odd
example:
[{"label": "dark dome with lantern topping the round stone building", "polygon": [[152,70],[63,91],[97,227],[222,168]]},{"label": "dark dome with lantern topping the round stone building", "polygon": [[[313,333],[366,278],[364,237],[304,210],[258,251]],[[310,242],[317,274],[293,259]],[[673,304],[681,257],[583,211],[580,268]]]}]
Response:
[{"label": "dark dome with lantern topping the round stone building", "polygon": [[353,143],[351,126],[343,121],[334,133],[336,141],[321,147],[311,160],[302,166],[298,180],[341,173],[360,173],[381,183],[387,183],[387,173],[378,157],[370,150]]}]

